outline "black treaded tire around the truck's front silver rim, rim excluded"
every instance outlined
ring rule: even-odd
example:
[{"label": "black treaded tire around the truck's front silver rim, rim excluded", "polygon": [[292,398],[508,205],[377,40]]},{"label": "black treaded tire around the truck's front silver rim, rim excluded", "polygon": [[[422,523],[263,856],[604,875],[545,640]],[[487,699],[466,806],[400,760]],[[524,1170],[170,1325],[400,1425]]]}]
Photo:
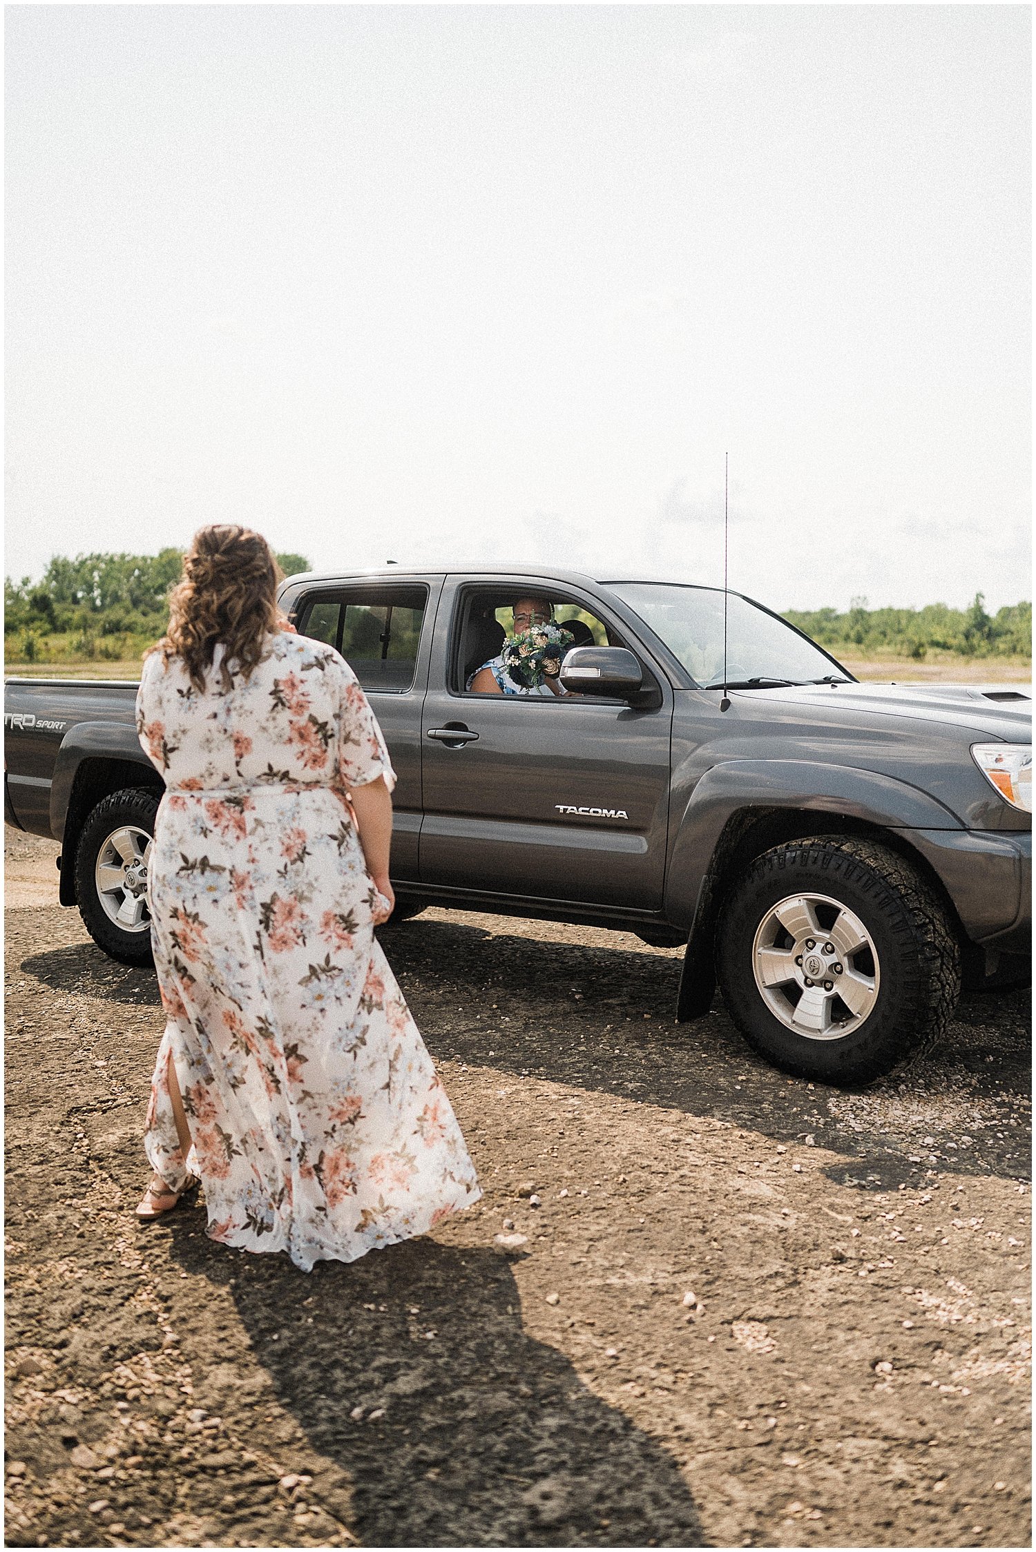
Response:
[{"label": "black treaded tire around the truck's front silver rim, rim excluded", "polygon": [[[755,933],[786,896],[829,896],[870,933],[881,965],[870,1015],[840,1038],[812,1040],[767,1007],[752,968]],[[857,1086],[927,1051],[960,996],[960,944],[946,909],[896,852],[854,837],[809,837],[763,852],[719,917],[716,970],[732,1020],[760,1055],[795,1077]]]}]

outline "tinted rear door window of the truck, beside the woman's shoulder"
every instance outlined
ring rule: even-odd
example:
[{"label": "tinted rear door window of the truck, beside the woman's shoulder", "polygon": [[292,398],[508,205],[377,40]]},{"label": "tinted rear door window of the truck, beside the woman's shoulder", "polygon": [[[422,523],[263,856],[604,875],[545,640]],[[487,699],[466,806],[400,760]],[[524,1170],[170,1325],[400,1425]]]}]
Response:
[{"label": "tinted rear door window of the truck, beside the woman's shoulder", "polygon": [[363,689],[401,694],[413,684],[427,604],[424,587],[322,593],[300,610],[300,632],[342,653]]}]

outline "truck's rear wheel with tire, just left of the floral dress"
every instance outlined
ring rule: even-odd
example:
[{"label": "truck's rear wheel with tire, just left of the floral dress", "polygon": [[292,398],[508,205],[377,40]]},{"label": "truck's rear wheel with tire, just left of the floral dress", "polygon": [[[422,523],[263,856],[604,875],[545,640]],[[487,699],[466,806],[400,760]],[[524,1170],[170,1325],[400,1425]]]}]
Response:
[{"label": "truck's rear wheel with tire, just left of the floral dress", "polygon": [[76,899],[93,942],[124,965],[151,965],[148,861],[157,793],[126,787],[87,816],[76,847]]}]

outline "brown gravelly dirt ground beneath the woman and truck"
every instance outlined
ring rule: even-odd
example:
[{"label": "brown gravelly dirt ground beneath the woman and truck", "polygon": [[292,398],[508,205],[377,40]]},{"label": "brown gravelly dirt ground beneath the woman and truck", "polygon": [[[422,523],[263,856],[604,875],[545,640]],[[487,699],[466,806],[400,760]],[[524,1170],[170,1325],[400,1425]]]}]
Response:
[{"label": "brown gravelly dirt ground beneath the woman and truck", "polygon": [[8,840],[8,1544],[1028,1544],[1027,993],[845,1094],[676,951],[430,909],[485,1198],[306,1277],[135,1223],[154,976]]}]

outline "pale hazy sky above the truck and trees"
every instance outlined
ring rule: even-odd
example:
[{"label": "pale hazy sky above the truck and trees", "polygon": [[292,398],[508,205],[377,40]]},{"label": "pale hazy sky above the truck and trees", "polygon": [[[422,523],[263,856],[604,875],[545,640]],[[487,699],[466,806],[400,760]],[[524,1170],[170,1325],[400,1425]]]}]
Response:
[{"label": "pale hazy sky above the truck and trees", "polygon": [[1030,596],[1027,6],[8,6],[6,566]]}]

